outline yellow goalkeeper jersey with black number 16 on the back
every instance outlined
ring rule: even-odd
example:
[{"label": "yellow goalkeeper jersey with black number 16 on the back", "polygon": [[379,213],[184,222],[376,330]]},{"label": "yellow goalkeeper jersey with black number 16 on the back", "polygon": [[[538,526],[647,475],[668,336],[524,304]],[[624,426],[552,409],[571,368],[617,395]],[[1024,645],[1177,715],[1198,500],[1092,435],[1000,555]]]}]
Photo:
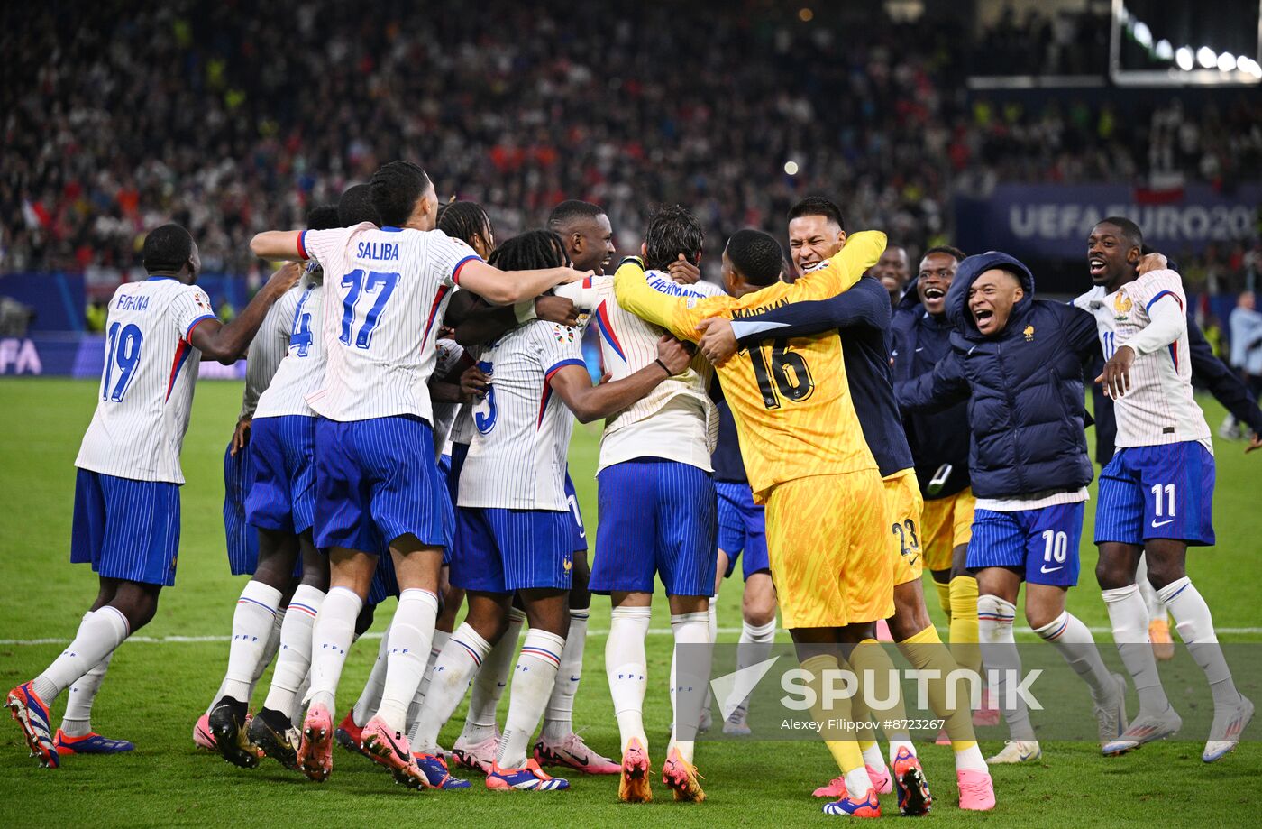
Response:
[{"label": "yellow goalkeeper jersey with black number 16 on the back", "polygon": [[[796,282],[777,282],[741,298],[659,293],[630,262],[618,268],[615,291],[625,310],[695,342],[697,324],[707,317],[738,320],[790,302],[834,297],[858,282],[883,250],[883,233],[857,233],[835,257]],[[737,353],[718,373],[758,503],[786,480],[877,468],[854,413],[835,331],[764,341]]]}]

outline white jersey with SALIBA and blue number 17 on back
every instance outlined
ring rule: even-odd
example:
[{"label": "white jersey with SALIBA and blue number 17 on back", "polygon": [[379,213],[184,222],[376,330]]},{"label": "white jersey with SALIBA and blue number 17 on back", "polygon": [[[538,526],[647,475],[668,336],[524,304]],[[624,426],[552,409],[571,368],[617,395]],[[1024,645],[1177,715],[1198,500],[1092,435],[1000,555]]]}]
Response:
[{"label": "white jersey with SALIBA and blue number 17 on back", "polygon": [[480,260],[440,230],[370,222],[307,230],[299,254],[324,269],[324,383],[307,402],[334,421],[414,414],[433,425],[434,339],[461,268]]}]

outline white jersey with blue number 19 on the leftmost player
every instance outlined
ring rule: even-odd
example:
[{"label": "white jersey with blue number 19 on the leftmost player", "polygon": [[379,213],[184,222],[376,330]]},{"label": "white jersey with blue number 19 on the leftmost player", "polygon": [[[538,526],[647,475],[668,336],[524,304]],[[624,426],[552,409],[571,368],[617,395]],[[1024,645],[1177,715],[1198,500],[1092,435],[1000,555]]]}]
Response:
[{"label": "white jersey with blue number 19 on the leftmost player", "polygon": [[114,292],[96,413],[76,466],[133,480],[184,483],[179,451],[202,363],[189,337],[199,322],[213,318],[204,291],[170,277],[149,277]]}]

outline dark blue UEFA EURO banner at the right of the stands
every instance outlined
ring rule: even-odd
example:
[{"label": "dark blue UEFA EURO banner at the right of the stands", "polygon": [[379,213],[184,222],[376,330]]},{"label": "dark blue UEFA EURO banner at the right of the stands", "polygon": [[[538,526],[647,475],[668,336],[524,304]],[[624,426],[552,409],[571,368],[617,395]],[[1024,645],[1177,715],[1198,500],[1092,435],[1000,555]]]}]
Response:
[{"label": "dark blue UEFA EURO banner at the right of the stands", "polygon": [[1078,258],[1092,227],[1126,216],[1152,248],[1179,255],[1209,244],[1248,243],[1262,222],[1262,185],[1219,192],[1206,185],[1145,190],[1122,185],[1000,185],[986,197],[955,197],[955,243],[963,250]]}]

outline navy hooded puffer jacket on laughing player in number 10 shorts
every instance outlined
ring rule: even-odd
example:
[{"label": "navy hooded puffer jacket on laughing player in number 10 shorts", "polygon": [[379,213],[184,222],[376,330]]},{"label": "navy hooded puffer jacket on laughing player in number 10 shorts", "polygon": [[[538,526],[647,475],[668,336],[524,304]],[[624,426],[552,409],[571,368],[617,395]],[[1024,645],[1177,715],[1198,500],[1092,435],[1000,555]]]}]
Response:
[{"label": "navy hooded puffer jacket on laughing player in number 10 shorts", "polygon": [[[1017,274],[1025,296],[1002,331],[983,336],[968,310],[968,289],[991,268]],[[1035,300],[1030,269],[992,250],[959,264],[946,292],[946,316],[955,329],[950,354],[931,374],[899,383],[899,406],[909,413],[936,412],[968,399],[968,466],[978,498],[1089,484],[1083,364],[1099,354],[1092,315]]]}]

